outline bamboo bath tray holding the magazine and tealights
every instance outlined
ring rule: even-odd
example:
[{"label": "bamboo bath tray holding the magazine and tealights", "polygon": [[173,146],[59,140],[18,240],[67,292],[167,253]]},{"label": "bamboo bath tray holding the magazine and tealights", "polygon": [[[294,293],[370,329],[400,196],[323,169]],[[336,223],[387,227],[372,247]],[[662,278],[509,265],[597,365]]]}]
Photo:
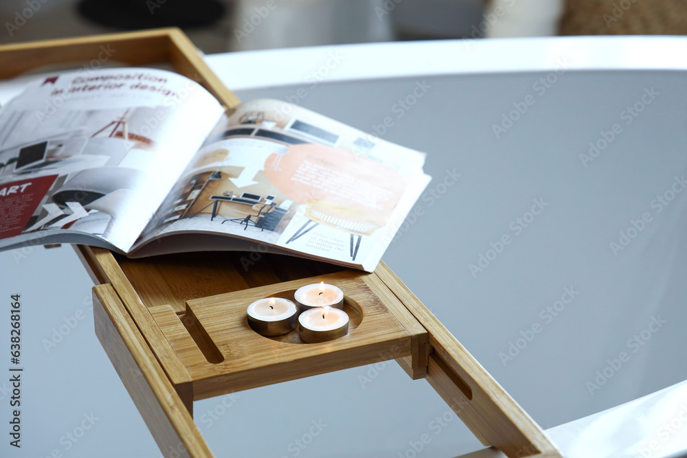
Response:
[{"label": "bamboo bath tray holding the magazine and tealights", "polygon": [[[238,104],[176,29],[0,47],[0,78],[46,65],[89,62],[102,47],[127,65],[168,63],[218,100]],[[184,253],[130,260],[76,247],[91,274],[95,332],[166,457],[209,458],[193,422],[193,400],[395,359],[424,378],[485,446],[508,457],[561,457],[541,428],[383,262],[374,273],[263,254]],[[347,336],[304,344],[269,339],[245,323],[258,297],[298,286],[339,284],[351,316]],[[247,348],[260,347],[260,358]],[[335,357],[333,357],[335,356]]]}]

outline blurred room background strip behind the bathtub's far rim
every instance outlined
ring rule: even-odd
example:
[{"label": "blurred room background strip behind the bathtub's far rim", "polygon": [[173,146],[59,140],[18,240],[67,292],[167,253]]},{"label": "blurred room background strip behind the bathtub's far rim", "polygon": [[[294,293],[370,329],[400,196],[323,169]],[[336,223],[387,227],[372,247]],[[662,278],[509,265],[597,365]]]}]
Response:
[{"label": "blurred room background strip behind the bathtub's far rim", "polygon": [[178,26],[206,54],[398,40],[685,34],[682,0],[3,0],[0,43]]}]

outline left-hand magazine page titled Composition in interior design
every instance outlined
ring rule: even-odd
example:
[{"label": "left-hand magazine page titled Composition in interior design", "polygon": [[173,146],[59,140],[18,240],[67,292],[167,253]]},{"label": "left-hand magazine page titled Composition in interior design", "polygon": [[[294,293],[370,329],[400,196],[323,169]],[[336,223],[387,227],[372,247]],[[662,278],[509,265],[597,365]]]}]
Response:
[{"label": "left-hand magazine page titled Composition in interior design", "polygon": [[27,84],[0,108],[0,248],[97,236],[128,251],[222,113],[199,84],[156,69]]}]

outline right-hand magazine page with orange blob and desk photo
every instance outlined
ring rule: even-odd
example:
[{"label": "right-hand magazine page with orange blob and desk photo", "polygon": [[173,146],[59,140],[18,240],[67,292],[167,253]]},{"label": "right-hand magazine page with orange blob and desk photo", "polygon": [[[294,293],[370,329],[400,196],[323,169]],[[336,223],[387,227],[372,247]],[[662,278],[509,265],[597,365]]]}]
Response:
[{"label": "right-hand magazine page with orange blob and desk photo", "polygon": [[304,108],[247,102],[216,126],[139,244],[222,233],[372,271],[429,183],[424,161]]}]

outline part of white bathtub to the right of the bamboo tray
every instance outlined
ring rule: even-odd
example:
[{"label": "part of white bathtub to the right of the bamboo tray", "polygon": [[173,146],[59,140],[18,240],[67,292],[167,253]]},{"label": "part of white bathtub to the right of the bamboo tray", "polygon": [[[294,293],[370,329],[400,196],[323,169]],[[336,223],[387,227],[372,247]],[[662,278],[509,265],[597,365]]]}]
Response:
[{"label": "part of white bathtub to the right of the bamboo tray", "polygon": [[[243,100],[290,100],[427,152],[433,181],[384,259],[551,428],[687,379],[686,50],[546,38],[208,60]],[[686,391],[661,396],[674,411],[647,400],[595,417],[604,447],[579,422],[551,434],[571,456],[687,450],[687,424],[657,433]]]}]

